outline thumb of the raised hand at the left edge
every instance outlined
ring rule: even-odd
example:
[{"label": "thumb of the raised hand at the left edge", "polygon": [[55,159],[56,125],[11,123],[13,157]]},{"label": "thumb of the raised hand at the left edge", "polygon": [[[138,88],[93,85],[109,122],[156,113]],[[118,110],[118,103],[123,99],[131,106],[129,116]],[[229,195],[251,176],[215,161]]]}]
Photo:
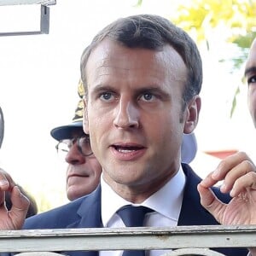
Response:
[{"label": "thumb of the raised hand at the left edge", "polygon": [[9,211],[9,218],[11,218],[14,229],[21,229],[26,218],[26,212],[29,207],[29,200],[20,192],[18,186],[15,186],[11,192],[12,207]]}]

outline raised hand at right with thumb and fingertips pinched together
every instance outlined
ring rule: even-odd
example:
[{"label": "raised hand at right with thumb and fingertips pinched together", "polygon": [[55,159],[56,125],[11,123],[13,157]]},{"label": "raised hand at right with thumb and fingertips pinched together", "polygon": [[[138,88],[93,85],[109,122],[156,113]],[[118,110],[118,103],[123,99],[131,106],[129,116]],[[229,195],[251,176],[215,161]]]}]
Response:
[{"label": "raised hand at right with thumb and fingertips pinched together", "polygon": [[[219,201],[210,187],[223,181],[220,190],[230,193],[228,204]],[[197,187],[201,205],[220,224],[256,224],[256,166],[243,152],[222,160]]]}]

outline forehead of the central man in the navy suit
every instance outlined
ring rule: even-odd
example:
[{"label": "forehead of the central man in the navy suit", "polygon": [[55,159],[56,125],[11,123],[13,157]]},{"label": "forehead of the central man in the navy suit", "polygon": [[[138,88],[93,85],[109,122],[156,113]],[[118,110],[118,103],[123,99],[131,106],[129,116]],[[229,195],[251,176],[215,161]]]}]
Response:
[{"label": "forehead of the central man in the navy suit", "polygon": [[[126,59],[124,61],[124,52],[129,54],[129,61]],[[138,55],[140,55],[139,58]],[[160,62],[168,68],[161,68],[159,65]],[[98,44],[90,54],[86,65],[87,82],[90,84],[89,80],[92,78],[93,74],[97,80],[108,76],[114,79],[113,74],[115,73],[119,73],[120,76],[123,75],[124,78],[126,78],[127,70],[148,74],[148,66],[145,65],[145,63],[151,63],[148,65],[151,74],[155,73],[155,78],[165,76],[166,73],[169,72],[169,69],[171,69],[169,75],[176,81],[183,80],[184,76],[187,74],[187,67],[182,56],[179,55],[172,45],[166,44],[161,50],[139,47],[129,48],[107,38]],[[91,70],[93,70],[93,73]],[[99,84],[98,82],[99,81],[97,81],[96,84]]]}]

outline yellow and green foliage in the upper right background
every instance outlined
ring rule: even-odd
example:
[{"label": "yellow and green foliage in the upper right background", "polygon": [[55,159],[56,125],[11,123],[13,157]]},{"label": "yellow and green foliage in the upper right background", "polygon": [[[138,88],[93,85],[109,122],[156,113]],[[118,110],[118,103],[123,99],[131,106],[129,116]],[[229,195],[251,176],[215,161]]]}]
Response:
[{"label": "yellow and green foliage in the upper right background", "polygon": [[[146,0],[144,0],[146,2]],[[170,0],[172,1],[172,0]],[[139,0],[141,5],[143,0]],[[209,38],[221,35],[220,40],[226,41],[239,49],[230,59],[220,59],[220,62],[230,61],[230,73],[241,68],[247,59],[247,53],[253,38],[256,38],[256,0],[181,0],[176,16],[172,22],[195,39],[198,44],[204,43],[210,50]],[[210,36],[210,37],[209,37]],[[236,96],[233,97],[230,116],[236,109]]]}]

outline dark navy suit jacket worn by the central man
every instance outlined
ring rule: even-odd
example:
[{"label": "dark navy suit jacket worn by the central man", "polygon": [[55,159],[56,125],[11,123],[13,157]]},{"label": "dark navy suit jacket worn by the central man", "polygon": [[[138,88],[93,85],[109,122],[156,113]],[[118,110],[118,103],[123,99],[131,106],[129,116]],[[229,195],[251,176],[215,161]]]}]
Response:
[{"label": "dark navy suit jacket worn by the central man", "polygon": [[[197,184],[201,182],[192,169],[183,164],[186,184],[183,194],[183,204],[178,218],[178,225],[215,225],[218,224],[212,215],[201,207]],[[221,201],[230,201],[229,195],[213,189]],[[100,186],[90,195],[72,201],[65,206],[55,208],[27,218],[24,229],[73,229],[102,227],[101,217],[101,188]],[[230,256],[247,255],[247,248],[218,248],[220,253]],[[62,252],[72,256],[96,256],[97,252]]]}]

